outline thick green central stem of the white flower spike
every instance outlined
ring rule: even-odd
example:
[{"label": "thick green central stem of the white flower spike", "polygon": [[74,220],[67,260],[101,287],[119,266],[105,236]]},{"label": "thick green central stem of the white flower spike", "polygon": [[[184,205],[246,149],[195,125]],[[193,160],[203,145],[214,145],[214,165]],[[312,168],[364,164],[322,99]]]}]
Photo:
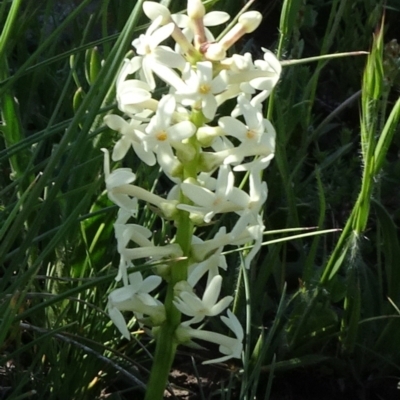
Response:
[{"label": "thick green central stem of the white flower spike", "polygon": [[[204,116],[201,112],[194,111],[191,120],[197,127],[200,127],[204,123]],[[183,177],[184,179],[196,179],[199,145],[195,135],[189,140],[189,144],[196,149],[196,156],[194,160],[184,163]],[[182,192],[180,193],[180,203],[191,203]],[[181,322],[181,313],[173,304],[174,286],[180,281],[187,280],[193,230],[194,225],[190,219],[190,214],[186,211],[179,211],[175,241],[181,247],[184,259],[177,261],[171,266],[171,277],[168,283],[167,295],[164,303],[167,318],[157,332],[156,351],[154,354],[149,382],[147,384],[145,400],[163,399],[165,385],[175,358],[176,348],[178,346],[178,343],[175,340],[175,330]]]}]

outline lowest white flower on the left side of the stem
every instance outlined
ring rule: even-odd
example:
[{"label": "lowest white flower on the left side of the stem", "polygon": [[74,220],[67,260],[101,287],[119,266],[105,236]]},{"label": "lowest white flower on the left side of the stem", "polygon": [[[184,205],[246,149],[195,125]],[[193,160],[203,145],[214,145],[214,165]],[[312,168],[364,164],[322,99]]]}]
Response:
[{"label": "lowest white flower on the left side of the stem", "polygon": [[[165,319],[164,306],[148,293],[154,290],[162,279],[152,275],[143,280],[140,272],[129,275],[129,285],[115,289],[108,296],[108,314],[122,335],[129,340],[130,334],[121,311],[147,314],[159,323]],[[152,299],[152,300],[150,300]]]}]

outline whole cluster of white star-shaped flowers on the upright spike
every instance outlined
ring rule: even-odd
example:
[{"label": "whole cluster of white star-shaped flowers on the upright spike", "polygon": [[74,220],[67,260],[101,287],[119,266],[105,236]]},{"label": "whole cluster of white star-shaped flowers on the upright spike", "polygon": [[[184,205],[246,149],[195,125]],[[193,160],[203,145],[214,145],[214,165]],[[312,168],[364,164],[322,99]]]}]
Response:
[{"label": "whole cluster of white star-shaped flowers on the upright spike", "polygon": [[[158,163],[173,188],[162,198],[135,186],[136,176],[130,169],[110,172],[104,150],[108,195],[120,207],[115,235],[121,256],[117,279],[123,283],[109,295],[109,315],[126,338],[130,334],[122,311],[133,312],[147,326],[163,324],[165,307],[149,294],[162,278],[152,275],[143,279],[140,272],[128,275],[128,268],[141,258],[188,257],[187,279],[174,284],[173,304],[189,317],[175,331],[177,342],[201,339],[218,344],[223,356],[210,362],[240,358],[243,329],[227,310],[233,298],[218,301],[219,271],[227,268],[224,246],[251,243],[252,250],[245,257],[247,268],[261,246],[264,225],[260,212],[267,198],[261,172],[275,149],[275,130],[263,116],[262,102],[276,85],[281,65],[265,49],[262,60],[254,61],[250,53],[227,55],[240,37],[258,27],[261,14],[257,11],[242,13],[216,41],[208,28],[225,23],[229,15],[206,14],[201,0],[188,0],[187,15],[171,15],[166,7],[150,1],[144,2],[143,9],[152,22],[132,42],[137,55],[125,60],[116,82],[123,117],[110,114],[105,123],[121,135],[112,152],[113,161],[122,160],[132,148],[145,164]],[[175,41],[174,48],[161,44],[170,38]],[[163,82],[167,93],[160,98],[155,89]],[[233,103],[231,114],[220,116],[219,107],[228,100]],[[248,193],[235,186],[234,171],[248,172]],[[190,232],[191,248],[184,254],[173,240],[155,246],[150,230],[130,223],[137,216],[138,201],[158,208],[176,225],[181,213],[188,213],[195,226],[212,222],[217,214],[237,217],[230,232],[222,227],[210,240],[202,241]],[[199,298],[194,287],[205,276],[207,286]],[[221,320],[234,337],[193,327],[224,310],[227,316]]]}]

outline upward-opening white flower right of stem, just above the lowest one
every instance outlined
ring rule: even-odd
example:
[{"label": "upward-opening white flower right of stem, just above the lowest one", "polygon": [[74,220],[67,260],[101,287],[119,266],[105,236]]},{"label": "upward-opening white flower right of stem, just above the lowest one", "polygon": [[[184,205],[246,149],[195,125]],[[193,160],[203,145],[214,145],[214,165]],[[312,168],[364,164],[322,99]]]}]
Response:
[{"label": "upward-opening white flower right of stem, just above the lowest one", "polygon": [[174,301],[175,307],[183,314],[193,317],[184,322],[184,325],[201,322],[204,317],[213,317],[220,314],[232,302],[232,296],[226,296],[218,303],[221,292],[222,276],[217,275],[210,281],[204,291],[203,298],[200,300],[194,293],[183,291]]}]

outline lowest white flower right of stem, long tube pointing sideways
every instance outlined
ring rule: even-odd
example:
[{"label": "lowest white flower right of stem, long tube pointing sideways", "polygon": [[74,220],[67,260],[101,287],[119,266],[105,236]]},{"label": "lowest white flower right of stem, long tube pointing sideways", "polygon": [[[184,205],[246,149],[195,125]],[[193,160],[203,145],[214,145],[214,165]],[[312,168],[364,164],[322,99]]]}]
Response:
[{"label": "lowest white flower right of stem, long tube pointing sideways", "polygon": [[219,351],[223,357],[203,362],[203,364],[225,362],[231,358],[241,358],[243,349],[243,328],[239,320],[228,310],[228,317],[222,316],[222,322],[235,334],[236,338],[221,335],[220,333],[193,329],[185,325],[179,325],[176,337],[181,343],[190,342],[191,339],[205,340],[219,345]]}]

